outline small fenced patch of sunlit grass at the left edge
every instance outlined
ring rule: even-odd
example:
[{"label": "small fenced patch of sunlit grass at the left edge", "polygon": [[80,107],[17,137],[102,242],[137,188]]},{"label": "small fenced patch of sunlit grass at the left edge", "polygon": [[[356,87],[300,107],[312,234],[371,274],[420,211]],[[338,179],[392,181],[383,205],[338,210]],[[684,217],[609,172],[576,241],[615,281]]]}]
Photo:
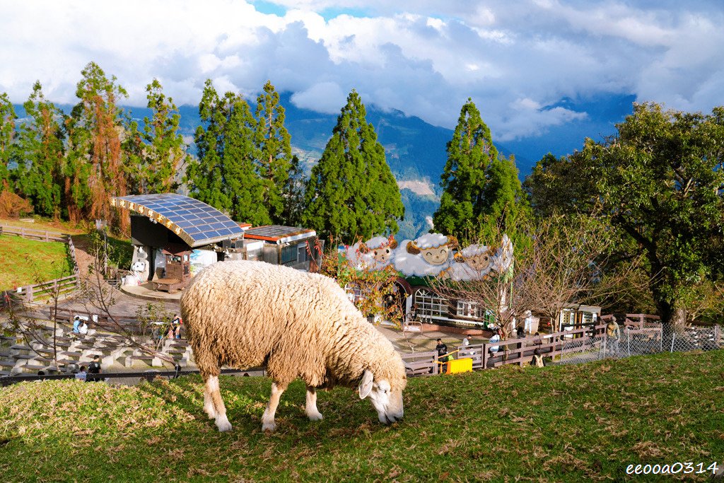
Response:
[{"label": "small fenced patch of sunlit grass at the left edge", "polygon": [[35,285],[73,273],[65,243],[14,235],[0,235],[0,263],[0,290]]}]

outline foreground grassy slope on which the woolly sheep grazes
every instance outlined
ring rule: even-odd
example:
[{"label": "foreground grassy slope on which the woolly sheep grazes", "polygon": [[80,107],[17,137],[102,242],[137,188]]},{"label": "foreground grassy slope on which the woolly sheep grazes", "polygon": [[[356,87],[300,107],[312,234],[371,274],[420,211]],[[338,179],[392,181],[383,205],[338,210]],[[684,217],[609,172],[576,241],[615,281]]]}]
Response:
[{"label": "foreground grassy slope on which the woolly sheep grazes", "polygon": [[720,350],[412,379],[405,419],[392,427],[345,388],[321,392],[326,419],[307,421],[296,382],[271,435],[260,431],[268,379],[223,378],[235,425],[224,434],[203,414],[198,377],[130,388],[25,383],[0,390],[0,474],[14,481],[620,481],[629,463],[722,461],[723,368]]}]

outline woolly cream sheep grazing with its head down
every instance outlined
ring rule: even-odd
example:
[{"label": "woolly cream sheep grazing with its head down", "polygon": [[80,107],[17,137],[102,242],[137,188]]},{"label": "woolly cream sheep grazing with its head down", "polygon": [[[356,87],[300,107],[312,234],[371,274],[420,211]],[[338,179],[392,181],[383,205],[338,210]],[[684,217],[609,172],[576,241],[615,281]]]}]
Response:
[{"label": "woolly cream sheep grazing with its head down", "polygon": [[219,431],[231,429],[219,393],[222,365],[266,364],[273,383],[262,429],[274,430],[279,397],[298,377],[313,421],[322,419],[316,389],[334,385],[357,387],[382,423],[403,417],[402,358],[328,277],[261,261],[217,263],[186,287],[181,314],[205,382],[203,408]]}]

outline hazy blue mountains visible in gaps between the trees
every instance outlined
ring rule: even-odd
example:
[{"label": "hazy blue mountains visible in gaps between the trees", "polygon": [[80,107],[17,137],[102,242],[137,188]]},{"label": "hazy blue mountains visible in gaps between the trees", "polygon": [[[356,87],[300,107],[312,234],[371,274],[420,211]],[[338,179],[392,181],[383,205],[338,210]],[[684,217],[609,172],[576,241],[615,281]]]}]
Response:
[{"label": "hazy blue mountains visible in gaps between the trees", "polygon": [[[290,101],[289,93],[282,94],[281,102],[286,110],[285,126],[292,137],[292,151],[304,161],[306,169],[311,169],[332,135],[337,114],[299,109]],[[583,146],[586,136],[600,140],[605,135],[615,133],[615,122],[620,122],[631,113],[632,102],[633,96],[598,96],[583,100],[565,98],[545,109],[563,106],[586,112],[586,119],[550,127],[546,134],[536,137],[510,140],[505,144],[493,138],[493,142],[505,156],[515,154],[519,176],[523,180],[544,154],[570,154]],[[70,113],[72,106],[62,105],[60,108]],[[430,125],[418,117],[409,117],[397,110],[383,111],[369,104],[366,108],[367,121],[374,125],[379,142],[384,146],[387,163],[400,184],[405,203],[405,219],[400,223],[400,232],[396,238],[416,238],[432,227],[432,214],[439,203],[440,175],[447,159],[445,146],[452,138],[452,130]],[[15,105],[15,109],[18,117],[25,116],[22,105]],[[143,117],[151,117],[151,109],[127,109],[139,122]],[[193,133],[200,123],[198,107],[180,106],[179,113],[180,131],[185,140],[192,143]],[[193,146],[192,151],[195,151]]]}]

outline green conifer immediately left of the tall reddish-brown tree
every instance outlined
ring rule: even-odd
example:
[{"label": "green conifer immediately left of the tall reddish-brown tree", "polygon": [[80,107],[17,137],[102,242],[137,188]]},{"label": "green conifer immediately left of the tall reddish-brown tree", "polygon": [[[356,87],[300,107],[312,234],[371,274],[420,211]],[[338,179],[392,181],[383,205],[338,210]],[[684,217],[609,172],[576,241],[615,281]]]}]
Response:
[{"label": "green conifer immediately left of the tall reddish-brown tree", "polygon": [[35,213],[58,218],[64,177],[64,114],[43,95],[40,81],[23,105],[29,121],[20,126],[22,177],[18,188],[33,204]]}]

